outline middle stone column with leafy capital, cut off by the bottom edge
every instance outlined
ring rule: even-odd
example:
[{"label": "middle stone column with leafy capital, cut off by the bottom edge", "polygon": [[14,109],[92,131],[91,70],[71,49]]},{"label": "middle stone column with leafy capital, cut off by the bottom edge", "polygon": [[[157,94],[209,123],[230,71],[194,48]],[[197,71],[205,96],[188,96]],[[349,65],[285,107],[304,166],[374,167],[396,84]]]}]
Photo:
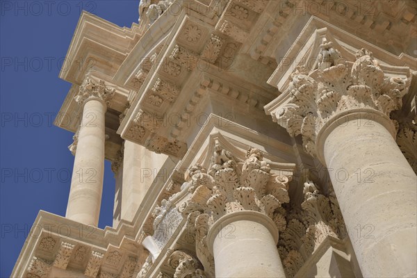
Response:
[{"label": "middle stone column with leafy capital, cut off by the bottom edge", "polygon": [[195,219],[196,251],[206,274],[286,277],[277,242],[286,227],[281,204],[289,202],[288,177],[274,174],[257,149],[248,150],[242,165],[216,144],[212,161],[208,171],[190,169],[193,195],[180,208]]}]

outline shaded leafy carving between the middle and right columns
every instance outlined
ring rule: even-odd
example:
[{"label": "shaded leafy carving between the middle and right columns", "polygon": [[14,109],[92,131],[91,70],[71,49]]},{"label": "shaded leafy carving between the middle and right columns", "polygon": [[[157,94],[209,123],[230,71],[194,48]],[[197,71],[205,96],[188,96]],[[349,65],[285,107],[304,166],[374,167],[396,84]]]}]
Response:
[{"label": "shaded leafy carving between the middle and right columns", "polygon": [[278,251],[287,277],[293,277],[317,247],[327,238],[347,236],[345,222],[334,192],[320,193],[316,185],[304,183],[304,202],[301,208],[292,208],[288,224],[281,232]]}]

